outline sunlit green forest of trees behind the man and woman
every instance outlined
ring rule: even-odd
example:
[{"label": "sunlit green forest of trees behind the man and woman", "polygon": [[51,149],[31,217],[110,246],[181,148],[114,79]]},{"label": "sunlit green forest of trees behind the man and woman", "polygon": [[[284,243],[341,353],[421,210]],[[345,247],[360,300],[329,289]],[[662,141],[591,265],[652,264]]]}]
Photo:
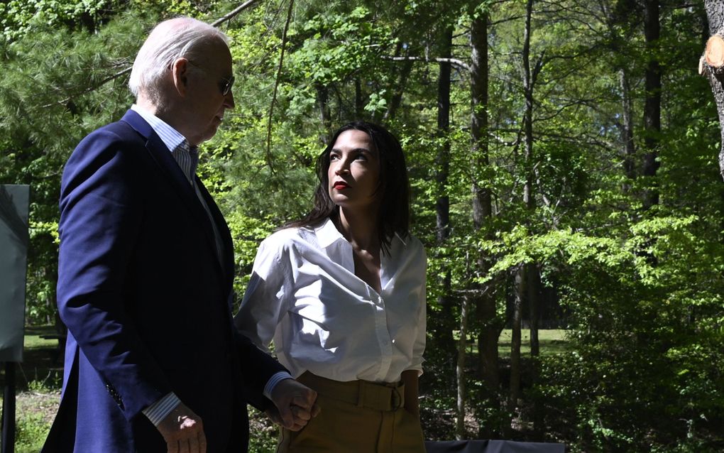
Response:
[{"label": "sunlit green forest of trees behind the man and woman", "polygon": [[330,133],[382,122],[429,257],[429,439],[724,449],[702,2],[4,0],[0,183],[32,190],[28,325],[57,322],[64,162],[132,104],[132,59],[177,14],[232,40],[236,109],[199,173],[232,230],[238,293],[259,241],[310,206]]}]

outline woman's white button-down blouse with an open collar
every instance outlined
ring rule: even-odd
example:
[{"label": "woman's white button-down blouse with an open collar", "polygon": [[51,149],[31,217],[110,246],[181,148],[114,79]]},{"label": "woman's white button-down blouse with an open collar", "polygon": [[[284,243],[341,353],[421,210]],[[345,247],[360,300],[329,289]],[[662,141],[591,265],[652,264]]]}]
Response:
[{"label": "woman's white button-down blouse with an open collar", "polygon": [[400,381],[422,373],[425,250],[392,239],[380,257],[382,294],[355,275],[351,244],[331,220],[288,228],[259,246],[237,328],[279,362],[335,381]]}]

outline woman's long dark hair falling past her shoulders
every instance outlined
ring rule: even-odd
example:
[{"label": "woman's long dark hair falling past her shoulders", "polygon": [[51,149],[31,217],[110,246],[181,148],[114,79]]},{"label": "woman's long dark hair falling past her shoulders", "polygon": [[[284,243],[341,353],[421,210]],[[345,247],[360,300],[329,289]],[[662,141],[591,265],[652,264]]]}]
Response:
[{"label": "woman's long dark hair falling past her shoulders", "polygon": [[289,223],[285,227],[315,226],[327,218],[331,218],[335,223],[340,220],[340,208],[329,198],[327,170],[329,170],[329,153],[337,143],[337,138],[345,130],[361,130],[366,133],[379,155],[379,190],[382,190],[382,200],[377,217],[377,233],[382,251],[387,253],[395,233],[401,238],[409,234],[410,183],[400,141],[387,129],[371,122],[350,122],[337,129],[327,148],[317,157],[316,174],[319,186],[314,193],[314,205],[311,211],[301,220]]}]

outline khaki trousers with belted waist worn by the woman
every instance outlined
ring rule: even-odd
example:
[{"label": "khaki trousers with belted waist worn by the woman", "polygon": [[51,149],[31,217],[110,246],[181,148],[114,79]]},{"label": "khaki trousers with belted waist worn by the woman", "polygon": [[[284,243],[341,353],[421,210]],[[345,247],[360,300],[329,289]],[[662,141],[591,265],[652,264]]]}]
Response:
[{"label": "khaki trousers with belted waist worn by the woman", "polygon": [[277,453],[424,453],[420,420],[404,409],[402,383],[339,382],[304,373],[321,412],[298,432],[282,429]]}]

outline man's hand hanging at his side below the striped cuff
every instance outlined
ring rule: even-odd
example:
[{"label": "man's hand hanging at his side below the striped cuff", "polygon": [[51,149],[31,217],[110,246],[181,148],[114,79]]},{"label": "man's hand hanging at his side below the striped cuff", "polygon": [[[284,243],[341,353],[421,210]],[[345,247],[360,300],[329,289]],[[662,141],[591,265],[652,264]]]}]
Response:
[{"label": "man's hand hanging at his side below the striped cuff", "polygon": [[206,453],[201,417],[185,404],[179,404],[156,428],[164,436],[168,453]]}]

